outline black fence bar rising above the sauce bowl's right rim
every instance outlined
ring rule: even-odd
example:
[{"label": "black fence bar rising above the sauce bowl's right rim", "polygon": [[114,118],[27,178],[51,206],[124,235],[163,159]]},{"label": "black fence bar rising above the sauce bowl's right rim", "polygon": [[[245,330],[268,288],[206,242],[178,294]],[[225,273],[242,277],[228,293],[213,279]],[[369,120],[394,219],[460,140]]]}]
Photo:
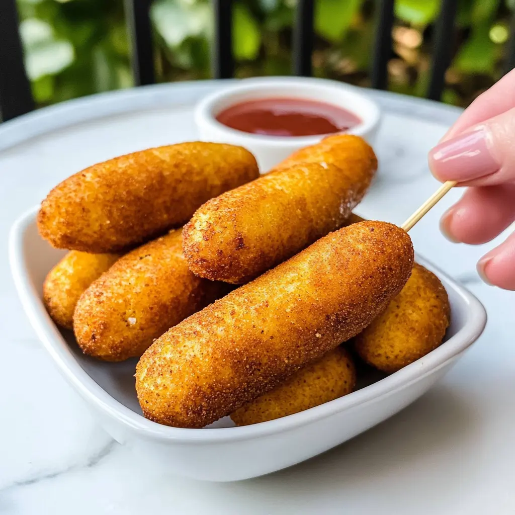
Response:
[{"label": "black fence bar rising above the sauce bowl's right rim", "polygon": [[380,0],[372,58],[370,79],[372,88],[385,90],[388,85],[388,60],[391,56],[391,28],[393,26],[393,0]]}]

